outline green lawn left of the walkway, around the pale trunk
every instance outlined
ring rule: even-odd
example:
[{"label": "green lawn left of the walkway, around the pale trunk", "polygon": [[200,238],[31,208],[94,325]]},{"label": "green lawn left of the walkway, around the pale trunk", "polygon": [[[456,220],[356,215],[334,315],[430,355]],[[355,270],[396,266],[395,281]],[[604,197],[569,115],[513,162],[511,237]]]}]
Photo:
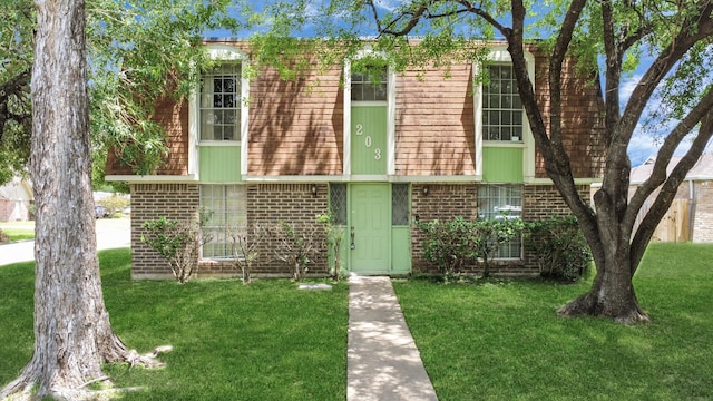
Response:
[{"label": "green lawn left of the walkway, around the pale trunk", "polygon": [[[124,400],[343,400],[346,394],[348,286],[305,292],[284,280],[131,282],[128,250],[100,254],[114,330],[167,368],[109,365]],[[33,263],[0,268],[0,385],[32,353]]]}]

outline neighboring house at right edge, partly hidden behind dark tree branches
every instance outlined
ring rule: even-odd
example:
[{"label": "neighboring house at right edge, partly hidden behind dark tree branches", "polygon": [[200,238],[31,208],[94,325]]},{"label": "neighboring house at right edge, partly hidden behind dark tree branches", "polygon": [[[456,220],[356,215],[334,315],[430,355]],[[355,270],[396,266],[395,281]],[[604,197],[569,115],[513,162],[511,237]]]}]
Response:
[{"label": "neighboring house at right edge, partly hidden behind dark tree branches", "polygon": [[[666,167],[671,172],[681,157],[671,158]],[[655,157],[649,157],[641,166],[632,168],[629,196],[651,176]],[[639,219],[648,209],[654,193],[639,213]],[[705,153],[691,168],[686,178],[678,186],[671,208],[662,218],[654,233],[654,241],[696,243],[713,242],[713,153]]]}]

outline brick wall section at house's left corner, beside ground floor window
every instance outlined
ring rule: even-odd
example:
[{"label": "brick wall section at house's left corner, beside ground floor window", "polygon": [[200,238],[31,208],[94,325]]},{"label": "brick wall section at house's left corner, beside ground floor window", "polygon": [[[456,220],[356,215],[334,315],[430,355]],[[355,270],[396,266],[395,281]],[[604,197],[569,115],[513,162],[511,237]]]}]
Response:
[{"label": "brick wall section at house's left corner, beside ground floor window", "polygon": [[144,222],[166,216],[185,221],[198,216],[197,184],[131,184],[131,276],[167,278],[170,267],[154,250],[140,241]]}]

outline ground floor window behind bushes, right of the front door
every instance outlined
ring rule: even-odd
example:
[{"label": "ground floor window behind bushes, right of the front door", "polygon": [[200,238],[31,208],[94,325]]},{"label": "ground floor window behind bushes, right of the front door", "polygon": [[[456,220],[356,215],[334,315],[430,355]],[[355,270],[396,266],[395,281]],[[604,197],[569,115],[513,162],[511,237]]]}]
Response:
[{"label": "ground floor window behind bushes, right of the front door", "polygon": [[[521,185],[479,185],[478,218],[520,218],[522,216]],[[496,258],[521,258],[522,238],[518,237],[498,248]]]}]

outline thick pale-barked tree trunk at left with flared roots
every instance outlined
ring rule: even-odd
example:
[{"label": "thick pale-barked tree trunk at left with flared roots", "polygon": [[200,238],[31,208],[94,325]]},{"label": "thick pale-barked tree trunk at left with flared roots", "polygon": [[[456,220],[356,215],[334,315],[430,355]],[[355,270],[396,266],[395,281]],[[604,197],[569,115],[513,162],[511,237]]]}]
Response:
[{"label": "thick pale-barked tree trunk at left with flared roots", "polygon": [[[82,0],[37,0],[31,173],[36,200],[35,353],[0,398],[65,398],[126,358],[97,258]],[[74,397],[69,397],[74,398]]]}]

